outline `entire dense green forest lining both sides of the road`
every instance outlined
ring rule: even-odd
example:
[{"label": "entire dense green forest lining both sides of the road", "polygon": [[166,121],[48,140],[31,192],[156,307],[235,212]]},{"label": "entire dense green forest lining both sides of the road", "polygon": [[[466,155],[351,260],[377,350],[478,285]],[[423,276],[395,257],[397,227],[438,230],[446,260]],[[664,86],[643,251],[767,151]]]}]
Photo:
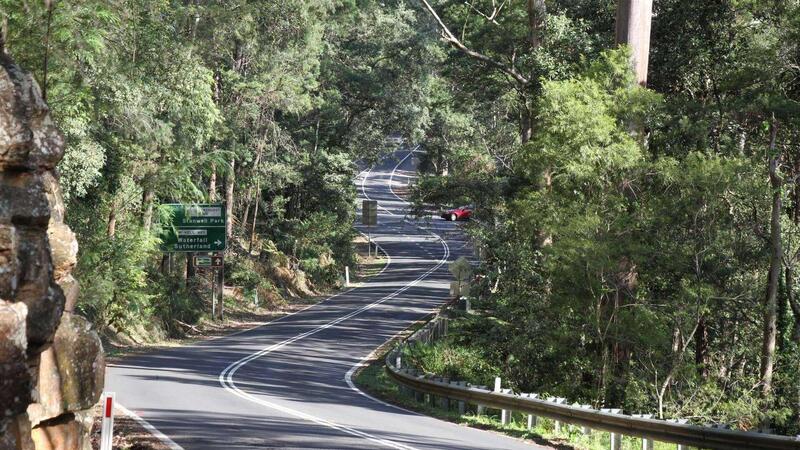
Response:
[{"label": "entire dense green forest lining both sides of the road", "polygon": [[420,214],[476,206],[484,314],[440,350],[479,364],[449,370],[800,433],[800,4],[654,9],[646,87],[614,0],[0,0],[0,20],[66,137],[101,330],[207,312],[159,249],[164,203],[226,205],[231,285],[336,284],[352,178],[399,135],[424,150]]}]

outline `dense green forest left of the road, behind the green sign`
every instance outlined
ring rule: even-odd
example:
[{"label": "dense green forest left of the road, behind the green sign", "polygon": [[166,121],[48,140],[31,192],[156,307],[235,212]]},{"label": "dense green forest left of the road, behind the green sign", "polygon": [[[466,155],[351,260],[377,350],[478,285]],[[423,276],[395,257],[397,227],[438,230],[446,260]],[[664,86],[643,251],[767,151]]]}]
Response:
[{"label": "dense green forest left of the road, behind the green sign", "polygon": [[[6,51],[67,141],[79,309],[102,331],[179,333],[210,298],[167,259],[171,202],[223,202],[226,284],[324,290],[352,264],[356,161],[421,136],[443,52],[410,5],[375,1],[3,0]],[[189,282],[187,282],[187,280]],[[163,333],[161,333],[163,335]]]}]

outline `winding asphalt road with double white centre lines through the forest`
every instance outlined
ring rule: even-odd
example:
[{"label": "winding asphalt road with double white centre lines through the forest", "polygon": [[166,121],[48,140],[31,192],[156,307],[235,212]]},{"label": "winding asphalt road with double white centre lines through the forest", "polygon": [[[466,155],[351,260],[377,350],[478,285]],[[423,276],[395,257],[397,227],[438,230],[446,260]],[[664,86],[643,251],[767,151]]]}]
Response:
[{"label": "winding asphalt road with double white centre lines through the forest", "polygon": [[106,389],[172,448],[526,449],[533,445],[416,414],[356,389],[382,343],[445,302],[447,263],[469,252],[453,224],[405,218],[394,190],[415,173],[398,151],[356,182],[378,200],[372,236],[388,255],[361,287],[260,327],[109,366]]}]

